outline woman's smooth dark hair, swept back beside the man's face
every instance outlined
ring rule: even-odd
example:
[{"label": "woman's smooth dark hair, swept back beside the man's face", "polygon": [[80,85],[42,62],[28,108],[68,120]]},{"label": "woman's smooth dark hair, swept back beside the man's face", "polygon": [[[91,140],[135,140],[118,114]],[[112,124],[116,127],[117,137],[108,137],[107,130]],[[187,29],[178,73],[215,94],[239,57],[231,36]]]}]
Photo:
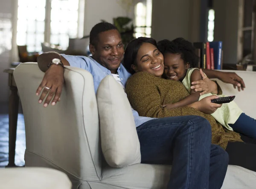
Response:
[{"label": "woman's smooth dark hair, swept back beside the man's face", "polygon": [[148,37],[139,37],[137,39],[131,40],[131,42],[128,43],[128,45],[126,46],[123,65],[131,74],[135,73],[135,71],[131,68],[131,65],[136,65],[137,53],[143,43],[151,43],[152,45],[157,47],[156,40]]}]

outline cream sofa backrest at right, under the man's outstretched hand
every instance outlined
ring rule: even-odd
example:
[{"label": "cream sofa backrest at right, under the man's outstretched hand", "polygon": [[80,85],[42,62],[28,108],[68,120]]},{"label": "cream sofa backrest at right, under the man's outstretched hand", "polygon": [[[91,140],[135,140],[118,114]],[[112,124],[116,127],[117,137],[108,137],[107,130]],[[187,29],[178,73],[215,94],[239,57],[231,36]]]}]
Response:
[{"label": "cream sofa backrest at right, under the man's outstretched hand", "polygon": [[229,96],[236,95],[234,101],[238,104],[241,110],[250,117],[256,119],[256,72],[233,70],[222,70],[222,72],[236,72],[236,74],[244,80],[246,88],[241,92],[234,89],[233,85],[223,83],[220,80],[217,80],[217,82],[221,86],[223,94]]}]

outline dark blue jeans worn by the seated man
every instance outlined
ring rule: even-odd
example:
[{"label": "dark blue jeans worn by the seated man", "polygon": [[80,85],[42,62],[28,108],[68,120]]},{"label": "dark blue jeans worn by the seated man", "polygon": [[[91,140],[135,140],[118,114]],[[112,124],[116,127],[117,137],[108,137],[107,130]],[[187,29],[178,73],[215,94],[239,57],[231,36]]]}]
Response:
[{"label": "dark blue jeans worn by the seated man", "polygon": [[171,164],[168,189],[220,189],[228,155],[211,144],[211,126],[203,117],[150,120],[137,127],[141,163]]}]

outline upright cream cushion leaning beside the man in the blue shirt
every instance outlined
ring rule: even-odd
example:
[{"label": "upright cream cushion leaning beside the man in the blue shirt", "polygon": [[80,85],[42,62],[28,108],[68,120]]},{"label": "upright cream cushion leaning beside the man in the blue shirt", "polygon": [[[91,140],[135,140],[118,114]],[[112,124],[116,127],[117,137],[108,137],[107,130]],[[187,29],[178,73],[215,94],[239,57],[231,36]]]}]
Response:
[{"label": "upright cream cushion leaning beside the man in the blue shirt", "polygon": [[102,152],[112,167],[140,163],[140,142],[136,131],[131,105],[117,81],[108,75],[96,94]]}]

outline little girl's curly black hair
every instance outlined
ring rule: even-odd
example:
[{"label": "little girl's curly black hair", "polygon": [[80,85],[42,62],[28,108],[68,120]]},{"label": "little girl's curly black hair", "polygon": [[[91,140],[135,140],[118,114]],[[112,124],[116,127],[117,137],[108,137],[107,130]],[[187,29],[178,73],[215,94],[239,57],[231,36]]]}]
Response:
[{"label": "little girl's curly black hair", "polygon": [[199,57],[195,54],[195,48],[192,43],[182,37],[175,40],[160,40],[157,43],[159,51],[163,54],[179,54],[184,63],[189,63],[191,68],[198,67]]}]

